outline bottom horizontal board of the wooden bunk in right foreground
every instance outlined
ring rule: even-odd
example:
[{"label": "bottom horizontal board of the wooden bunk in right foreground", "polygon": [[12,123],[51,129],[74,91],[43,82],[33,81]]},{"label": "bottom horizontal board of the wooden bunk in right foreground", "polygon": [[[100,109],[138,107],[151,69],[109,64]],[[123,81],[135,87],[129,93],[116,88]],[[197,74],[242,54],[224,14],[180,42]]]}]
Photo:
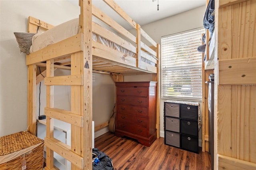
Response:
[{"label": "bottom horizontal board of the wooden bunk in right foreground", "polygon": [[219,170],[255,170],[256,164],[218,154]]}]

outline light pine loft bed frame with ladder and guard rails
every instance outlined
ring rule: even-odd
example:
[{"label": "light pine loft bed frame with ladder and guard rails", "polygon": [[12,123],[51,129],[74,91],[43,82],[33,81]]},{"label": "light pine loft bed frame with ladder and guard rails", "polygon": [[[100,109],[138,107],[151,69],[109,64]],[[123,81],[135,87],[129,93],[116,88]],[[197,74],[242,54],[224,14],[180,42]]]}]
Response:
[{"label": "light pine loft bed frame with ladder and guard rails", "polygon": [[[42,79],[46,85],[46,170],[54,168],[53,152],[57,152],[72,163],[74,169],[92,169],[92,73],[110,74],[114,81],[123,81],[123,75],[152,74],[152,81],[159,82],[160,45],[144,32],[113,0],[103,0],[117,14],[122,16],[134,29],[137,37],[106,16],[92,5],[91,0],[80,0],[80,34],[61,42],[49,45],[26,55],[28,65],[28,131],[36,134],[36,84]],[[92,22],[92,16],[111,26],[116,32],[130,40],[124,43],[116,34],[103,30]],[[53,26],[36,18],[29,17],[28,32]],[[98,34],[137,54],[137,58],[128,57],[110,47],[92,41],[92,32]],[[143,36],[152,45],[141,42]],[[136,44],[135,46],[132,44]],[[146,57],[156,63],[156,67],[140,61],[145,51],[154,55]],[[36,67],[44,66],[45,77],[36,75]],[[54,77],[54,69],[70,69],[71,75]],[[53,85],[71,86],[71,111],[54,108]],[[159,138],[159,85],[156,102],[156,130]],[[71,124],[71,147],[53,136],[53,119]],[[104,123],[104,125],[108,125]],[[96,127],[99,129],[101,127]]]}]

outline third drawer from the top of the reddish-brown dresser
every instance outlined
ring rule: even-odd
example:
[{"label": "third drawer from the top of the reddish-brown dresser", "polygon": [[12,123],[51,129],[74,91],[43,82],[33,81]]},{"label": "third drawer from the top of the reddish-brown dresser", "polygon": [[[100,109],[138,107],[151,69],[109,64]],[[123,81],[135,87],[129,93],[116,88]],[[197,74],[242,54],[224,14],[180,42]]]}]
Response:
[{"label": "third drawer from the top of the reddish-brown dresser", "polygon": [[131,105],[118,105],[117,106],[118,113],[129,113],[138,116],[148,116],[148,108],[147,107],[139,107],[139,106],[131,106]]}]

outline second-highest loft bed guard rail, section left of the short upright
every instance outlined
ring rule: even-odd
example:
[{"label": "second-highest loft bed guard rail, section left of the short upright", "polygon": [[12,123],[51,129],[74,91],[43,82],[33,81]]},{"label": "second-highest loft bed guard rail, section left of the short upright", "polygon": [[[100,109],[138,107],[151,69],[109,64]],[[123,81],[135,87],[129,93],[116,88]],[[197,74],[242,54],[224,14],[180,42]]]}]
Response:
[{"label": "second-highest loft bed guard rail, section left of the short upright", "polygon": [[126,38],[132,40],[133,42],[136,43],[136,37],[132,35],[130,32],[128,32],[125,28],[123,28],[120,24],[115,22],[112,18],[104,14],[102,11],[100,11],[98,8],[95,6],[92,6],[92,14],[98,18],[99,20],[102,20],[112,28],[114,28],[116,31],[118,31],[120,34],[125,36]]}]

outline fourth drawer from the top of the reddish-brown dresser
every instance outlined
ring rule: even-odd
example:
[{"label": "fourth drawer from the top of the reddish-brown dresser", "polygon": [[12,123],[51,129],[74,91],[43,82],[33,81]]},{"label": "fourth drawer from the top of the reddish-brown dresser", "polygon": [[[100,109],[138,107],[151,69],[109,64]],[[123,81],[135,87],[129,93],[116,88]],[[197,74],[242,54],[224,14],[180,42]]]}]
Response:
[{"label": "fourth drawer from the top of the reddish-brown dresser", "polygon": [[148,125],[148,119],[146,117],[139,117],[139,116],[128,115],[124,113],[118,113],[117,120],[127,122],[127,123],[132,123],[135,125],[140,125],[143,127],[147,127]]}]

